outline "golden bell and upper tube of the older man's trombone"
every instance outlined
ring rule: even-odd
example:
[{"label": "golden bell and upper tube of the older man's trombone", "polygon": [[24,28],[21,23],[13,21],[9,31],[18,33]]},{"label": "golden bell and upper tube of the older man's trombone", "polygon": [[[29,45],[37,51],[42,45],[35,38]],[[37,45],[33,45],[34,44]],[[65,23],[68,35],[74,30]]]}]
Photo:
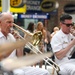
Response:
[{"label": "golden bell and upper tube of the older man's trombone", "polygon": [[19,29],[19,30],[21,30],[22,32],[24,32],[24,34],[27,34],[27,35],[29,35],[29,36],[32,36],[32,44],[33,44],[34,46],[36,46],[36,45],[38,45],[38,44],[40,43],[40,41],[41,41],[41,39],[42,39],[42,32],[41,32],[41,31],[37,31],[37,32],[35,32],[35,33],[30,33],[30,32],[28,32],[27,30],[25,30],[25,29],[23,29],[22,27],[20,27],[20,26],[18,26],[17,24],[15,24],[15,23],[13,23],[13,25],[14,25],[17,29]]}]

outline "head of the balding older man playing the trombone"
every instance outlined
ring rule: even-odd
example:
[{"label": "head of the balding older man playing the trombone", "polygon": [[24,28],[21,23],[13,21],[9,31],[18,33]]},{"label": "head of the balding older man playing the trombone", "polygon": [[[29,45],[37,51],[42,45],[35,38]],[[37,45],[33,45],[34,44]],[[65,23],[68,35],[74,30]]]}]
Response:
[{"label": "head of the balding older man playing the trombone", "polygon": [[13,27],[13,16],[11,13],[8,12],[3,12],[0,14],[0,28],[1,28],[1,32],[7,36],[8,33],[10,33],[10,29],[11,27]]}]

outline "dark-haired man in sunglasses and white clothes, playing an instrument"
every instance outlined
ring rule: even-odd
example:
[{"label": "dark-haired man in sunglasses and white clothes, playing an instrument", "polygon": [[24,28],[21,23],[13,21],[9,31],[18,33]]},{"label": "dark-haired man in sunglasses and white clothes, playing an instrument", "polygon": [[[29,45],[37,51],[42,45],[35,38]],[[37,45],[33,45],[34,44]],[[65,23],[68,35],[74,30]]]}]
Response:
[{"label": "dark-haired man in sunglasses and white clothes, playing an instrument", "polygon": [[72,16],[65,13],[62,14],[60,17],[60,26],[61,29],[51,40],[55,62],[60,67],[59,74],[75,75],[75,59],[69,59],[69,55],[75,45],[75,39],[73,39],[73,36],[70,33],[70,29],[73,26]]}]

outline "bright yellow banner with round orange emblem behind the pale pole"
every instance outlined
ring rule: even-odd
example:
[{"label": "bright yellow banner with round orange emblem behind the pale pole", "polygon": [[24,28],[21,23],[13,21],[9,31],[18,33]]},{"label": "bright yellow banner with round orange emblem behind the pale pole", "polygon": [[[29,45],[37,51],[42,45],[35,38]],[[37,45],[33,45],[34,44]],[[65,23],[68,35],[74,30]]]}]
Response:
[{"label": "bright yellow banner with round orange emblem behind the pale pole", "polygon": [[[2,12],[2,0],[0,0],[0,12]],[[26,4],[23,0],[10,0],[10,12],[26,13]]]}]

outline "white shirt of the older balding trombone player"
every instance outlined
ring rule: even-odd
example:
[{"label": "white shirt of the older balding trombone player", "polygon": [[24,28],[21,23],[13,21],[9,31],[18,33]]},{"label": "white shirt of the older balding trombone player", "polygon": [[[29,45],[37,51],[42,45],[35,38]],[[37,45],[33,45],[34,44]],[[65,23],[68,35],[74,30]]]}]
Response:
[{"label": "white shirt of the older balding trombone player", "polygon": [[[16,41],[16,39],[13,37],[12,34],[8,34],[7,38],[0,32],[0,44],[6,43],[6,42],[13,42]],[[16,50],[14,50],[8,57],[14,57],[16,56]]]}]

